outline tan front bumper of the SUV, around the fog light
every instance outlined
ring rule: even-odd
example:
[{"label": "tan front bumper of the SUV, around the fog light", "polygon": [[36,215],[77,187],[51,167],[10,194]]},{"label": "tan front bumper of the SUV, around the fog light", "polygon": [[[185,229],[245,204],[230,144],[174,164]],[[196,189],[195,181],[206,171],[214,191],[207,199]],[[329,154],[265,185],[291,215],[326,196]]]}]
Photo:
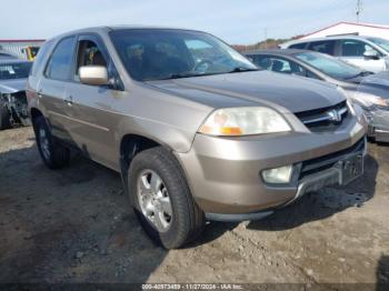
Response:
[{"label": "tan front bumper of the SUV, around the fog light", "polygon": [[[209,219],[250,220],[271,213],[305,192],[338,183],[336,164],[350,153],[366,150],[365,132],[353,119],[336,131],[320,133],[260,138],[197,134],[192,149],[177,157],[196,202]],[[269,185],[262,181],[262,170],[286,164],[298,170],[291,183]]]}]

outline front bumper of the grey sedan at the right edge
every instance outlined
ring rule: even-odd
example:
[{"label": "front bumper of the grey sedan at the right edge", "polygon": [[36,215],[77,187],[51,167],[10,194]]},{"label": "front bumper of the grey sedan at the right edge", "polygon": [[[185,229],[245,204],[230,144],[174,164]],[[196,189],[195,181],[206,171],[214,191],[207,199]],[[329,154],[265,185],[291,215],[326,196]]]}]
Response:
[{"label": "front bumper of the grey sedan at the right edge", "polygon": [[365,114],[369,121],[368,137],[379,142],[389,142],[389,111],[366,110]]}]

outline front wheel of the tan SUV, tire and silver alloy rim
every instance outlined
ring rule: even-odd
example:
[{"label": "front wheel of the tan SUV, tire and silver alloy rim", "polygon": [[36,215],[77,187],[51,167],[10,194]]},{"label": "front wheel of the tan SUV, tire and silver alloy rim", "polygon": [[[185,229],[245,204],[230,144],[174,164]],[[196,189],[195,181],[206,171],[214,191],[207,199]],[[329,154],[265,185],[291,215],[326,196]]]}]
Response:
[{"label": "front wheel of the tan SUV, tire and silver alloy rim", "polygon": [[154,241],[166,249],[177,249],[201,233],[205,214],[168,150],[157,147],[137,154],[128,179],[137,217]]}]

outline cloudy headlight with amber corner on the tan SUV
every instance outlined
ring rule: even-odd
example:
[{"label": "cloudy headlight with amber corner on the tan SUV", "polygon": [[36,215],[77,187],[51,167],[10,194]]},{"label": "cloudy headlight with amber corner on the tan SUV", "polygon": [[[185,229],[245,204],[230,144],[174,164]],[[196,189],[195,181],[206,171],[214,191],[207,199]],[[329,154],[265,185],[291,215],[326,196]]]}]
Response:
[{"label": "cloudy headlight with amber corner on the tan SUV", "polygon": [[226,108],[213,111],[199,132],[210,136],[250,136],[290,131],[287,121],[265,107]]}]

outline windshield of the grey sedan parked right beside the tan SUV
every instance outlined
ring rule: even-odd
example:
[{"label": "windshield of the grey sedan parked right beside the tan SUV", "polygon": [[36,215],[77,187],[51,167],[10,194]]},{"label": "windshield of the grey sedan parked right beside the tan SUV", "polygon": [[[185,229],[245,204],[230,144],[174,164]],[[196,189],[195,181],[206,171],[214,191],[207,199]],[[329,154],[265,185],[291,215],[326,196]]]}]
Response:
[{"label": "windshield of the grey sedan parked right beside the tan SUV", "polygon": [[296,58],[335,79],[351,79],[362,74],[361,70],[326,54],[300,52]]}]

